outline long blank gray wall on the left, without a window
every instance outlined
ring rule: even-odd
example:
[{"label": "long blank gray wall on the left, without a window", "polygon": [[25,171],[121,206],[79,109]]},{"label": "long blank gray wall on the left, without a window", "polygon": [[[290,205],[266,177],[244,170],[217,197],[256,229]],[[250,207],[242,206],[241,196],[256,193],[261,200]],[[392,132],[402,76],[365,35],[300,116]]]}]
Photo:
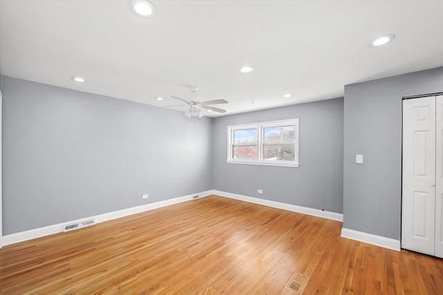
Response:
[{"label": "long blank gray wall on the left, without a window", "polygon": [[3,235],[213,188],[212,118],[0,79]]}]

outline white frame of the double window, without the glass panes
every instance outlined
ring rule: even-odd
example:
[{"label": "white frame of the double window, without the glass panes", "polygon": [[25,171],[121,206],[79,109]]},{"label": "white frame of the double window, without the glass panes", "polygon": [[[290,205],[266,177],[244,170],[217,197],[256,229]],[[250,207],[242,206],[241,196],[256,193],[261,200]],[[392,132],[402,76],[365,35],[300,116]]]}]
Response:
[{"label": "white frame of the double window, without the glass panes", "polygon": [[[263,159],[263,150],[264,150],[264,128],[266,127],[281,127],[295,125],[294,129],[294,161],[273,161],[273,160],[265,160]],[[234,131],[241,129],[251,129],[257,128],[257,155],[256,160],[244,160],[244,159],[234,159],[233,157],[233,146],[235,145],[234,141]],[[284,166],[284,167],[298,167],[300,163],[298,162],[298,133],[299,133],[299,125],[298,118],[293,118],[289,120],[278,120],[278,121],[270,121],[270,122],[262,122],[262,123],[253,123],[253,124],[244,124],[244,125],[230,125],[228,126],[228,159],[227,163],[235,163],[235,164],[248,164],[248,165],[264,165],[264,166]],[[273,145],[272,143],[268,145]]]}]

